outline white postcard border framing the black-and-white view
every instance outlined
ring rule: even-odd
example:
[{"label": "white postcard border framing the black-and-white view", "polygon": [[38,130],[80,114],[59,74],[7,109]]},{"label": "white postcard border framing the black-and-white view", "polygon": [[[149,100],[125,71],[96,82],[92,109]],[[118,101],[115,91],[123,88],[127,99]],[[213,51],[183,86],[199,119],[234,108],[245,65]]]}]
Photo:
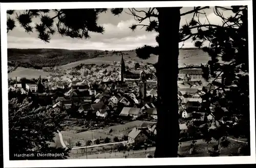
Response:
[{"label": "white postcard border framing the black-and-white view", "polygon": [[[7,25],[6,10],[22,9],[72,9],[72,8],[146,8],[146,7],[194,7],[197,6],[248,6],[249,42],[249,92],[251,156],[186,157],[186,158],[134,158],[134,159],[67,159],[67,160],[9,160],[8,131],[8,73],[7,73]],[[194,164],[245,164],[255,163],[255,109],[254,109],[254,61],[252,1],[185,1],[185,2],[88,2],[88,3],[1,3],[1,49],[2,49],[2,101],[4,167],[73,167],[73,166],[127,166],[127,165],[194,165]]]}]

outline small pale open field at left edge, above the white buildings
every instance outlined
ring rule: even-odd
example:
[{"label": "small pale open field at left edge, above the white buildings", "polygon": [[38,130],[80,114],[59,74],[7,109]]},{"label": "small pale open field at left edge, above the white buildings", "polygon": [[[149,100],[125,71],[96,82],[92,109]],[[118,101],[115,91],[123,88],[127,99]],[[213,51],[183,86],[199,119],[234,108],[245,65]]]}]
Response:
[{"label": "small pale open field at left edge, above the white buildings", "polygon": [[27,79],[32,79],[32,78],[37,79],[39,77],[39,75],[41,75],[41,78],[45,78],[45,77],[49,76],[50,73],[42,71],[42,70],[38,70],[38,69],[29,69],[29,68],[18,67],[16,70],[8,73],[8,78],[15,79],[15,77],[17,76],[18,80],[19,80],[19,78],[22,78],[22,77],[26,77]]}]

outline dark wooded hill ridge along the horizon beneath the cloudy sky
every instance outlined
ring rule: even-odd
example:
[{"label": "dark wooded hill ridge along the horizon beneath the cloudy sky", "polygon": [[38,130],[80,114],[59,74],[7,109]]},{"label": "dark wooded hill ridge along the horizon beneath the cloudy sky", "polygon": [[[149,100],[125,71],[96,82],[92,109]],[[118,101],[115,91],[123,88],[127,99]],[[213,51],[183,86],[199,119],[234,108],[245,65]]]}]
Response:
[{"label": "dark wooded hill ridge along the horizon beneath the cloudy sky", "polygon": [[[195,48],[182,49],[184,54]],[[185,51],[187,50],[187,51]],[[135,50],[122,51],[124,55],[136,57]],[[112,57],[117,51],[108,50],[68,50],[68,49],[16,49],[8,48],[8,66],[41,69],[98,57]]]}]

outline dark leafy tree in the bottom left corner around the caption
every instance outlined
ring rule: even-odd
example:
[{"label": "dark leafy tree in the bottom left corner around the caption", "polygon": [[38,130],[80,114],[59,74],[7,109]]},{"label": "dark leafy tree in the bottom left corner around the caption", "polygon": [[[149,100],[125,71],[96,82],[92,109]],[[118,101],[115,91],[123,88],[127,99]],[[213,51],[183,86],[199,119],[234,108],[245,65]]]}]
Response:
[{"label": "dark leafy tree in the bottom left corner around the caption", "polygon": [[[35,107],[30,98],[19,103],[9,100],[10,160],[15,159],[64,159],[69,149],[50,146],[54,133],[61,130],[65,114],[56,113],[50,106]],[[36,157],[37,153],[65,153],[63,157]],[[31,154],[31,157],[15,157],[14,154]]]}]

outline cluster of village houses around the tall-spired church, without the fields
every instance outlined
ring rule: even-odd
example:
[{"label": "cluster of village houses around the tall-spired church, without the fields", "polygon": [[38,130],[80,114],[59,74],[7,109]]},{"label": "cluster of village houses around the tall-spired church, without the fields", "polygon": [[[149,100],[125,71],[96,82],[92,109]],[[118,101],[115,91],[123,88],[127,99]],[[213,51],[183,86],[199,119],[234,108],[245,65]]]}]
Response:
[{"label": "cluster of village houses around the tall-spired church, without the fields", "polygon": [[[155,69],[148,65],[146,68],[128,68],[123,57],[120,64],[110,65],[103,69],[92,67],[74,70],[80,76],[51,75],[45,82],[41,82],[45,90],[63,95],[53,99],[53,108],[57,111],[71,111],[85,117],[106,118],[118,116],[136,120],[140,117],[157,121],[157,79]],[[69,72],[66,72],[69,73]],[[211,120],[213,115],[205,116],[201,110],[204,101],[202,95],[210,91],[213,86],[203,79],[202,69],[182,69],[178,75],[178,104],[180,118],[191,120]],[[20,83],[9,86],[11,90],[20,90],[22,94],[37,92],[36,83]],[[212,108],[214,109],[214,108]],[[196,118],[201,114],[200,118]],[[147,135],[143,130],[156,134],[156,124],[147,124],[141,128],[134,128],[129,133],[129,142],[142,141]],[[180,125],[182,131],[186,124]],[[144,141],[144,140],[143,140]]]}]

